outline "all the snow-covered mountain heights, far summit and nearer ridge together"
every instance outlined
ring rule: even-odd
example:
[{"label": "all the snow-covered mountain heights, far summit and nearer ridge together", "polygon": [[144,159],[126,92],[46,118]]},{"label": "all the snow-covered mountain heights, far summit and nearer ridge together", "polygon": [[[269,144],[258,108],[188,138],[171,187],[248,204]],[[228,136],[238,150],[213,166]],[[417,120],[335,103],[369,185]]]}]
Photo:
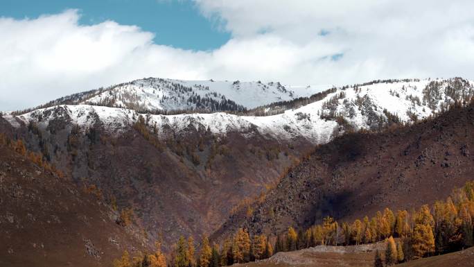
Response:
[{"label": "all the snow-covered mountain heights, far summit and nearer ridge together", "polygon": [[[321,89],[298,91],[295,87],[277,83],[198,83],[150,78],[68,96],[54,102],[59,105],[50,104],[4,117],[15,127],[33,122],[46,128],[51,121],[60,120],[85,130],[100,125],[117,133],[128,129],[139,117],[145,117],[147,125],[159,136],[169,130],[190,129],[209,130],[216,135],[242,132],[249,137],[252,132],[258,132],[278,139],[305,138],[320,144],[342,132],[362,128],[378,130],[394,123],[410,123],[446,110],[453,103],[467,103],[474,96],[474,83],[462,78],[375,80],[308,95],[310,90]],[[190,107],[199,110],[200,101],[207,97],[220,100],[218,103],[232,99],[235,105],[244,109],[265,112],[255,116],[255,112],[248,110],[193,114],[144,111]],[[207,103],[214,105],[217,102]]]}]

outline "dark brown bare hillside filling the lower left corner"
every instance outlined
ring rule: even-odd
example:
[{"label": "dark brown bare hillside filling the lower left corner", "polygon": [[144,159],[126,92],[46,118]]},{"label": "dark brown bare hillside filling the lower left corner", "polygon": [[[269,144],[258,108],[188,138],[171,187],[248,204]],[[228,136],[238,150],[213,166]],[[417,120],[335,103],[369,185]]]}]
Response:
[{"label": "dark brown bare hillside filling the lower left corner", "polygon": [[150,250],[108,206],[0,145],[0,266],[110,266]]}]

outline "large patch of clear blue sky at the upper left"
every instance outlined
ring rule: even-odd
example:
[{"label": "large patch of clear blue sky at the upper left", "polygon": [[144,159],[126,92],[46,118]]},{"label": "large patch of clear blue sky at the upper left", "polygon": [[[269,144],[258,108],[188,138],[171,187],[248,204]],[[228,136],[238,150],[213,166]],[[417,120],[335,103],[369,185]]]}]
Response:
[{"label": "large patch of clear blue sky at the upper left", "polygon": [[155,43],[180,49],[209,50],[225,44],[231,34],[207,19],[191,1],[171,0],[1,0],[0,16],[36,18],[67,9],[80,10],[80,24],[113,20],[155,33]]}]

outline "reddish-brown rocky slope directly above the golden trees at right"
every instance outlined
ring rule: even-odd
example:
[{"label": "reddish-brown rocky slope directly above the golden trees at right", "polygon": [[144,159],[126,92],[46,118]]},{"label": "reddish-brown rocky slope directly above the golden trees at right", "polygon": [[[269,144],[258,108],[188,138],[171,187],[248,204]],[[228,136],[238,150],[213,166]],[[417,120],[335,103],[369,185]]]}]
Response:
[{"label": "reddish-brown rocky slope directly above the golden trees at right", "polygon": [[352,221],[385,207],[396,212],[431,204],[474,178],[473,147],[472,105],[411,127],[344,135],[290,171],[252,216],[231,216],[212,237],[237,227],[278,234],[323,216]]}]

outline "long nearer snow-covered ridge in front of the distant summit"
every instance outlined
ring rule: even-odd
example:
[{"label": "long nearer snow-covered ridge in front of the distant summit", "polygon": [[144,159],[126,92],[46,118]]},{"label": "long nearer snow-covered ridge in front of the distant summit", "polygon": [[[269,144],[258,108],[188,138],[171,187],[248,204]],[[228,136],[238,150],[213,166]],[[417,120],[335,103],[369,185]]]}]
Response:
[{"label": "long nearer snow-covered ridge in front of the distant summit", "polygon": [[16,118],[9,115],[7,119],[12,126],[15,126],[16,120],[25,123],[35,121],[39,126],[46,127],[53,120],[63,119],[83,129],[100,123],[106,130],[121,132],[136,122],[139,116],[143,116],[150,128],[156,127],[157,135],[164,135],[169,128],[184,131],[193,127],[196,130],[209,129],[217,135],[238,131],[251,137],[252,132],[258,131],[279,139],[303,137],[314,143],[325,143],[347,130],[377,130],[392,122],[410,122],[429,117],[446,109],[454,101],[471,99],[474,96],[473,85],[472,81],[453,78],[346,86],[337,88],[321,101],[266,117],[238,116],[224,112],[154,115],[116,107],[60,105]]}]

